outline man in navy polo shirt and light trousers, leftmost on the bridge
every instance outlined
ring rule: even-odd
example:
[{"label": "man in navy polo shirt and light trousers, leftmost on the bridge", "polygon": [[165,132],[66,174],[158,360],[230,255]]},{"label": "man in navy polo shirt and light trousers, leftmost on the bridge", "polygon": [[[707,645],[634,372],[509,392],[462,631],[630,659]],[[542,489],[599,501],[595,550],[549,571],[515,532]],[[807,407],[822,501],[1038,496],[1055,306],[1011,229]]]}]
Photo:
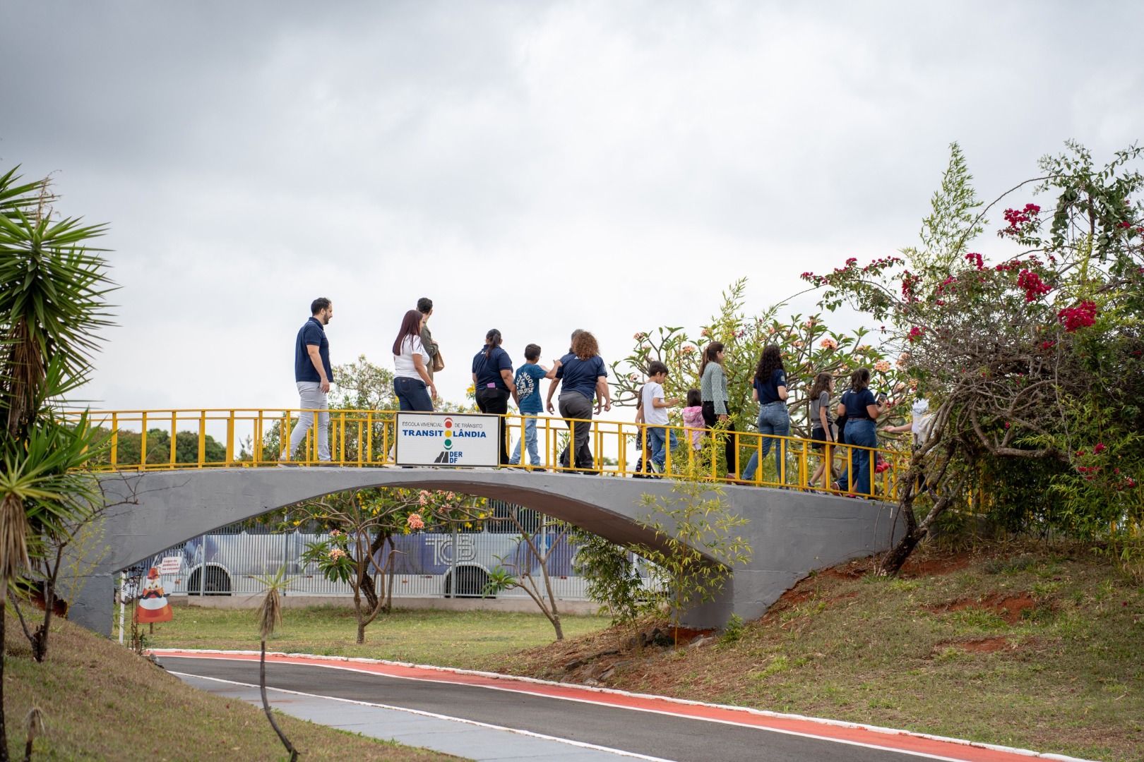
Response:
[{"label": "man in navy polo shirt and light trousers, leftmost on the bridge", "polygon": [[[334,372],[329,367],[329,342],[326,340],[325,326],[334,315],[334,305],[326,297],[318,297],[310,303],[311,318],[305,321],[294,339],[294,380],[297,383],[299,407],[302,412],[297,417],[294,431],[289,435],[289,449],[283,456],[288,462],[299,444],[305,439],[305,433],[313,425],[313,410],[318,410],[318,459],[329,460],[329,414],[326,412],[326,394],[329,392],[329,379]],[[305,459],[303,457],[303,459]]]}]

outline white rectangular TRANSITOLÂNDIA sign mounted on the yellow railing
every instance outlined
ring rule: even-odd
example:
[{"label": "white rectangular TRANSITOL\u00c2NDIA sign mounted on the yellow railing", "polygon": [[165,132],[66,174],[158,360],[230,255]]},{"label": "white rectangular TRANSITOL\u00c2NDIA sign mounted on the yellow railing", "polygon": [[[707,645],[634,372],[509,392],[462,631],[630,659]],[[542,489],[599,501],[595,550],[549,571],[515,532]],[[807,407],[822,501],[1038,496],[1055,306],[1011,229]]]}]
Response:
[{"label": "white rectangular TRANSITOL\u00c2NDIA sign mounted on the yellow railing", "polygon": [[499,422],[499,416],[398,412],[397,465],[500,465]]}]

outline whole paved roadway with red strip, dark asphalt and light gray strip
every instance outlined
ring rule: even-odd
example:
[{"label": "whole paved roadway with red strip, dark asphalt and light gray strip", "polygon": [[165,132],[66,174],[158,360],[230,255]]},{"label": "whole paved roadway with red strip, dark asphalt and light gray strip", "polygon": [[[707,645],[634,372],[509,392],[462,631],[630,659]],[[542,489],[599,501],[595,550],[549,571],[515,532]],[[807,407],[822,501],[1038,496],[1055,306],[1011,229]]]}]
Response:
[{"label": "whole paved roadway with red strip, dark asphalt and light gray strip", "polygon": [[[157,651],[186,682],[259,703],[257,655]],[[852,723],[370,659],[271,655],[288,714],[474,760],[1027,762],[1027,751]]]}]

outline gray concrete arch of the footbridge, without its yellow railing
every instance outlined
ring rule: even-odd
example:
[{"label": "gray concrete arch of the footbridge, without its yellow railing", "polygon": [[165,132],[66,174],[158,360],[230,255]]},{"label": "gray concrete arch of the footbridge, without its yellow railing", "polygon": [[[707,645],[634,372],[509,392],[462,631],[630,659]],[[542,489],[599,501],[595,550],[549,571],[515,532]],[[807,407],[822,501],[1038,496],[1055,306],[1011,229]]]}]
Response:
[{"label": "gray concrete arch of the footbridge, without its yellow railing", "polygon": [[[535,508],[614,543],[658,546],[637,523],[645,494],[667,495],[670,481],[526,472],[445,468],[188,468],[100,475],[112,507],[90,575],[69,618],[111,634],[116,575],[204,532],[301,500],[348,489],[443,489]],[[900,536],[896,506],[829,495],[760,487],[725,487],[725,499],[748,519],[739,532],[753,559],[733,570],[712,603],[689,611],[693,627],[722,627],[732,613],[762,616],[784,591],[815,569],[869,555]],[[702,548],[697,548],[702,550]]]}]

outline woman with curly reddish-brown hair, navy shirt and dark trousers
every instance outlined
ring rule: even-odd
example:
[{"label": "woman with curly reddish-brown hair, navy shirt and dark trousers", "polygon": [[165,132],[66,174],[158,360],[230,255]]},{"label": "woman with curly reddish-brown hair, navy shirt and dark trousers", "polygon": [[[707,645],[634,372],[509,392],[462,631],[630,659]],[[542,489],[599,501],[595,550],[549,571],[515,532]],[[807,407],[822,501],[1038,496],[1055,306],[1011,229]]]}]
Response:
[{"label": "woman with curly reddish-brown hair, navy shirt and dark trousers", "polygon": [[[561,452],[561,467],[572,467],[572,452],[575,452],[575,468],[595,473],[591,448],[588,440],[591,435],[591,403],[596,400],[596,412],[601,407],[612,409],[612,395],[607,388],[607,369],[599,356],[599,345],[596,337],[586,330],[572,332],[572,347],[561,358],[556,369],[556,380],[548,387],[548,412],[553,410],[553,392],[561,384],[561,415],[567,420],[572,432],[572,441]],[[598,398],[597,398],[598,394]],[[589,423],[581,423],[589,422]]]}]

